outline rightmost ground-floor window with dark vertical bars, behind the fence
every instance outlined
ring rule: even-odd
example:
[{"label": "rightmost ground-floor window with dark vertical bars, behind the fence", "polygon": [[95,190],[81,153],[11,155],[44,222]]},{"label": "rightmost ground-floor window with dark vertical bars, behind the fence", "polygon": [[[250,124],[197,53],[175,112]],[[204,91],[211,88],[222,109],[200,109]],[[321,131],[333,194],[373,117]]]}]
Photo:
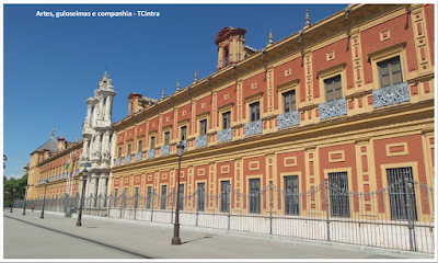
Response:
[{"label": "rightmost ground-floor window with dark vertical bars, behind the fence", "polygon": [[[417,220],[417,209],[415,205],[415,190],[413,185],[412,168],[387,169],[388,193],[390,196],[391,219],[392,220]],[[407,191],[410,195],[411,210],[407,214],[406,184],[404,176],[407,175]]]}]

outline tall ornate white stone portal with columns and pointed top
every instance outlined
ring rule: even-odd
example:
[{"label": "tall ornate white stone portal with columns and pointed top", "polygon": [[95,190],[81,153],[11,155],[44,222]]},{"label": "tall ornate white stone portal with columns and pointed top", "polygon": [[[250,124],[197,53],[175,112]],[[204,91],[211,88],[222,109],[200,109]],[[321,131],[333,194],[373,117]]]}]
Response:
[{"label": "tall ornate white stone portal with columns and pointed top", "polygon": [[[94,98],[90,96],[85,122],[82,128],[83,151],[80,157],[80,171],[87,167],[89,171],[85,196],[107,196],[107,184],[111,180],[110,169],[113,159],[113,141],[115,130],[111,126],[114,92],[110,76],[103,75],[99,89],[94,90]],[[80,192],[81,193],[81,192]],[[96,205],[97,202],[93,202]],[[103,203],[102,203],[103,204]]]}]

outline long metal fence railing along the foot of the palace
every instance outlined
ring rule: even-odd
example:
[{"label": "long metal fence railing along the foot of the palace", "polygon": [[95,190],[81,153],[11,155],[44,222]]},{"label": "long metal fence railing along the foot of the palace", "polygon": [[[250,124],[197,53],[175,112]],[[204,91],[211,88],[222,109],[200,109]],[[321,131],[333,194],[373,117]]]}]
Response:
[{"label": "long metal fence railing along the foot of the palace", "polygon": [[[274,184],[261,188],[253,181],[247,193],[223,184],[218,194],[208,194],[203,185],[181,195],[180,224],[435,253],[433,187],[404,178],[379,191],[354,192],[343,184],[343,174],[336,176],[307,192],[299,192],[293,180],[285,180],[283,188]],[[148,192],[146,196],[136,191],[132,196],[123,192],[85,197],[83,214],[173,222],[176,191]],[[42,203],[27,201],[26,209],[32,205],[41,209]],[[24,201],[15,199],[15,208],[23,205]],[[78,195],[47,198],[45,209],[71,207],[76,213],[78,205]]]}]

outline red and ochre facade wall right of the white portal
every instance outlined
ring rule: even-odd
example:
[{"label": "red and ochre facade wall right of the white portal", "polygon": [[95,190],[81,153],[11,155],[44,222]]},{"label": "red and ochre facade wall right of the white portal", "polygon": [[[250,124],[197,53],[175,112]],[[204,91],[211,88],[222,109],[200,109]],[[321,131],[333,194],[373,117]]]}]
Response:
[{"label": "red and ochre facade wall right of the white portal", "polygon": [[[115,158],[120,159],[112,169],[112,192],[127,188],[131,196],[139,187],[139,194],[146,196],[148,186],[159,194],[162,185],[168,193],[175,188],[176,144],[184,126],[187,148],[181,183],[186,195],[198,183],[205,183],[206,193],[218,194],[222,181],[249,193],[250,179],[260,179],[261,188],[269,183],[284,188],[284,178],[289,175],[298,175],[299,191],[307,192],[336,172],[348,174],[350,191],[371,192],[388,187],[387,169],[396,168],[412,168],[415,181],[435,185],[434,5],[353,4],[350,9],[348,20],[344,11],[335,13],[304,28],[302,35],[293,34],[264,52],[242,57],[234,67],[219,67],[209,78],[115,123]],[[377,107],[373,92],[382,88],[379,65],[393,58],[400,60],[408,101]],[[341,77],[346,114],[322,119],[326,81],[336,76]],[[290,91],[295,91],[299,124],[279,128],[284,94]],[[130,105],[136,98],[130,96]],[[247,136],[253,103],[260,105],[262,132]],[[231,113],[232,139],[218,142],[227,112]],[[197,147],[204,119],[207,146]],[[165,133],[170,133],[169,153],[162,152]],[[154,148],[150,146],[152,137]],[[128,146],[131,156],[127,163]],[[150,150],[154,157],[148,158]],[[137,160],[136,153],[140,156]],[[217,204],[208,203],[207,210],[218,211]],[[303,201],[301,209],[316,205],[318,201]],[[353,205],[355,210],[371,210],[378,204],[368,199],[364,207]],[[281,210],[281,201],[274,206]],[[185,204],[185,209],[191,208],[196,209],[194,202]],[[232,199],[231,208],[247,207]],[[262,209],[266,209],[266,201]]]}]

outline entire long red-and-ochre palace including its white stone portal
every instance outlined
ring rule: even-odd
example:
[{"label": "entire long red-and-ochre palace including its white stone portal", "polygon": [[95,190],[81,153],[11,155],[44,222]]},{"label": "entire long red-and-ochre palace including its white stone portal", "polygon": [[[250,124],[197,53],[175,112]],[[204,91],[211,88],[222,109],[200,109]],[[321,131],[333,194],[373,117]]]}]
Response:
[{"label": "entire long red-and-ochre palace including its white stone portal", "polygon": [[105,72],[82,140],[31,155],[30,196],[87,168],[89,215],[173,222],[181,197],[182,225],[434,252],[434,4],[349,4],[261,50],[227,26],[216,72],[132,91],[117,123]]}]

